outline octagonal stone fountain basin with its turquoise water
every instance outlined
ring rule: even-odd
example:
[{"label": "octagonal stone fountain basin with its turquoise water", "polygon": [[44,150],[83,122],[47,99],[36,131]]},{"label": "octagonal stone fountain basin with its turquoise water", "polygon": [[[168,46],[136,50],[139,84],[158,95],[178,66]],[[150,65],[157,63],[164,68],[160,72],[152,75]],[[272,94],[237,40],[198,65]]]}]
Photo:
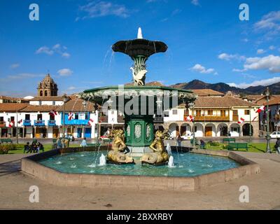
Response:
[{"label": "octagonal stone fountain basin with its turquoise water", "polygon": [[260,172],[255,162],[228,151],[174,152],[175,167],[168,168],[168,165],[153,167],[138,164],[98,166],[99,157],[102,153],[106,154],[106,150],[96,150],[89,147],[81,152],[81,148],[69,148],[65,152],[69,154],[62,156],[58,150],[31,155],[22,159],[22,172],[57,186],[187,191]]}]

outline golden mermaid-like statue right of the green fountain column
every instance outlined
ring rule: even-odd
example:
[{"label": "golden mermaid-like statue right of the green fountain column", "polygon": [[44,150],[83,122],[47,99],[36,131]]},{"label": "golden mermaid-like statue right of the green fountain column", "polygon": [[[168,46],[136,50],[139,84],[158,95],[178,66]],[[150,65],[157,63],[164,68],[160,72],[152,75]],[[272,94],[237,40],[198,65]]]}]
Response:
[{"label": "golden mermaid-like statue right of the green fountain column", "polygon": [[169,156],[165,150],[165,144],[163,142],[163,140],[167,137],[167,132],[168,130],[165,130],[164,132],[158,130],[155,132],[155,140],[150,146],[153,153],[145,153],[141,158],[142,163],[160,165],[168,162]]}]

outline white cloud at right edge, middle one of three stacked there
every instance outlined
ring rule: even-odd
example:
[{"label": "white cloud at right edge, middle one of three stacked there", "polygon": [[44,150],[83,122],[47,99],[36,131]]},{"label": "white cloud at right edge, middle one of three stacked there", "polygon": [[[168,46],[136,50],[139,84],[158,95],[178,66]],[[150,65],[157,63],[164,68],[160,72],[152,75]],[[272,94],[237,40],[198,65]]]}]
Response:
[{"label": "white cloud at right edge, middle one of three stacked there", "polygon": [[268,69],[271,73],[280,72],[280,57],[268,55],[266,57],[248,57],[244,69],[261,70]]}]

